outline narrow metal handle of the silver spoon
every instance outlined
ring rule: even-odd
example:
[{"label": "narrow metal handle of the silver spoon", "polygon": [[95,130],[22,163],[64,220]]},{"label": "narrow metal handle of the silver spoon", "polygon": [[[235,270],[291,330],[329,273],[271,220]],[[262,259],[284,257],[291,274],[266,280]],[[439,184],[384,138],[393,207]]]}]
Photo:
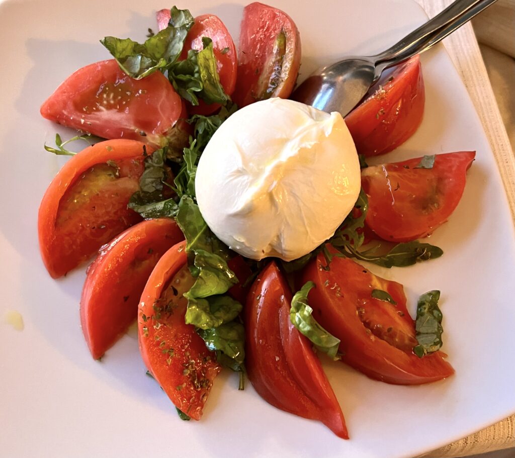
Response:
[{"label": "narrow metal handle of the silver spoon", "polygon": [[385,68],[409,59],[438,43],[494,2],[496,0],[456,0],[398,43],[373,56],[371,59],[376,64],[375,79],[379,78]]}]

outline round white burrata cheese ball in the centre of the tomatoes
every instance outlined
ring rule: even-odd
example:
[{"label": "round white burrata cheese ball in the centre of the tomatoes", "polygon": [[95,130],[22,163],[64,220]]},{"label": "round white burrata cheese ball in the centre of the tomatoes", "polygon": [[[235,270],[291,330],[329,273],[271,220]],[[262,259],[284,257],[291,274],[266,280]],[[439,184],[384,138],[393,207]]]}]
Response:
[{"label": "round white burrata cheese ball in the centre of the tomatoes", "polygon": [[198,164],[200,212],[243,256],[297,259],[331,237],[361,189],[354,142],[339,113],[271,98],[222,124]]}]

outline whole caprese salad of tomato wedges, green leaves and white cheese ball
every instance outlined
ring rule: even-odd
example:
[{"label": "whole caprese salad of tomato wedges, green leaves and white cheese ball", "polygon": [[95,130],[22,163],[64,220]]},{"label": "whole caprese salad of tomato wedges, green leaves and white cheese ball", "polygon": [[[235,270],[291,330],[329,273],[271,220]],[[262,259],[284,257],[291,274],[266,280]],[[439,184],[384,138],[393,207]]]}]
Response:
[{"label": "whole caprese salad of tomato wedges, green leaves and white cheese ball", "polygon": [[[148,39],[105,37],[112,59],[68,77],[46,119],[100,137],[50,183],[39,210],[53,278],[83,265],[85,341],[100,359],[138,321],[141,356],[182,419],[199,420],[222,367],[273,406],[348,438],[317,353],[368,377],[422,384],[454,373],[440,350],[440,292],[420,296],[368,261],[404,267],[442,251],[474,151],[367,166],[420,125],[421,64],[381,78],[344,119],[284,100],[300,33],[245,7],[236,47],[215,15],[157,12]],[[68,140],[69,141],[69,140]],[[431,266],[428,266],[430,269]]]}]

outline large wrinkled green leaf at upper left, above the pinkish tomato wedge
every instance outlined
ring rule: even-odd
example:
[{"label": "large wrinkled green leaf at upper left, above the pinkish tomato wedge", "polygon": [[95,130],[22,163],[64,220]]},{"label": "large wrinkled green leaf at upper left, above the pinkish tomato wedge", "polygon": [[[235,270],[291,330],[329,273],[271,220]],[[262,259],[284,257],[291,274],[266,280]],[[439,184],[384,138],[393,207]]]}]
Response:
[{"label": "large wrinkled green leaf at upper left, above the pinkish tomato wedge", "polygon": [[105,37],[100,40],[122,70],[134,79],[145,78],[157,70],[165,71],[180,56],[184,40],[194,24],[188,10],[175,6],[170,10],[170,24],[140,44],[130,38]]}]

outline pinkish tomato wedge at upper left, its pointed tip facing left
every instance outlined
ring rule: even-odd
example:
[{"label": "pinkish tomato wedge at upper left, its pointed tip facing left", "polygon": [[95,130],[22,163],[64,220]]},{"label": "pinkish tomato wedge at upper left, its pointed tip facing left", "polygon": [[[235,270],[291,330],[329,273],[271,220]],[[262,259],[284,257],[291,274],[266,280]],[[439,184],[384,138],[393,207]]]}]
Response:
[{"label": "pinkish tomato wedge at upper left, its pointed tip facing left", "polygon": [[185,115],[183,108],[181,98],[161,72],[135,80],[113,59],[73,73],[41,105],[41,115],[102,138],[128,138],[161,146]]}]

